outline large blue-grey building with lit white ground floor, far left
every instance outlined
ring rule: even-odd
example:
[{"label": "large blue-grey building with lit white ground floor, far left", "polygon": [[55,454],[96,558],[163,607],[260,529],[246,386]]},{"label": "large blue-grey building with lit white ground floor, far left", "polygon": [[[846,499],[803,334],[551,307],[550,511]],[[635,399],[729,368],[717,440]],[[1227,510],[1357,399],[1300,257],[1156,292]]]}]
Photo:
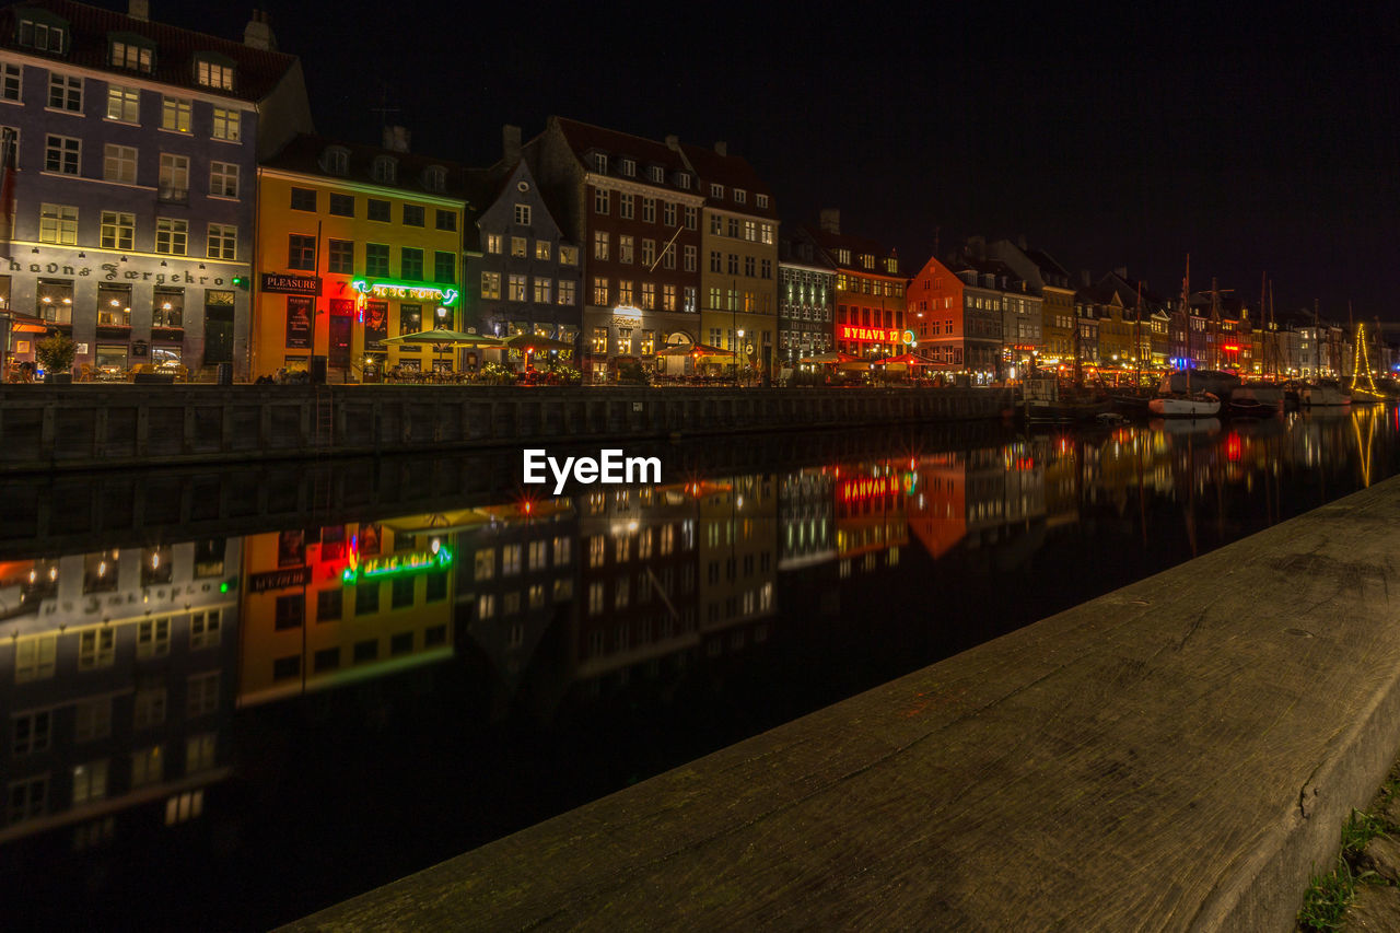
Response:
[{"label": "large blue-grey building with lit white ground floor, far left", "polygon": [[258,158],[311,130],[301,64],[260,14],[242,42],[147,14],[146,0],[0,10],[0,126],[18,167],[6,364],[34,359],[36,318],[77,343],[78,378],[143,363],[246,375]]}]

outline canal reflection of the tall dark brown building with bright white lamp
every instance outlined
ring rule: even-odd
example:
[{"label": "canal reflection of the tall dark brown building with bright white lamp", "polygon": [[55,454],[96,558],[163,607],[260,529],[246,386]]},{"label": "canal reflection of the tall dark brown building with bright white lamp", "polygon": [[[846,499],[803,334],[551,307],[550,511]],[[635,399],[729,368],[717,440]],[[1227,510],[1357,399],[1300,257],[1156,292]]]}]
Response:
[{"label": "canal reflection of the tall dark brown building with bright white lamp", "polygon": [[615,488],[578,497],[580,679],[696,644],[703,489],[708,485]]}]

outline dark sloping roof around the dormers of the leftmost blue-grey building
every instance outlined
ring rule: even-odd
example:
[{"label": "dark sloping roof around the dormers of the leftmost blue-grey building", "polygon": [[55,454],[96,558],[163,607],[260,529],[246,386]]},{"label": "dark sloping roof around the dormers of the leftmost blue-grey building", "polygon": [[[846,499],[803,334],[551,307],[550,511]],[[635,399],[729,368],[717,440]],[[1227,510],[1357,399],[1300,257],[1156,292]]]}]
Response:
[{"label": "dark sloping roof around the dormers of the leftmost blue-grey building", "polygon": [[[18,43],[18,22],[25,10],[43,10],[69,24],[64,55],[38,52]],[[42,15],[42,14],[41,14]],[[127,34],[127,41],[139,38],[154,46],[153,70],[133,71],[111,66],[109,36]],[[123,38],[123,36],[116,36]],[[291,69],[297,56],[284,52],[255,49],[242,42],[181,29],[164,22],[136,20],[125,13],[91,7],[71,0],[28,0],[0,8],[0,48],[52,57],[74,66],[108,71],[127,77],[143,77],[189,90],[221,94],[244,101],[260,101]],[[232,90],[211,88],[195,80],[195,62],[202,53],[216,62],[225,59],[234,64]]]}]

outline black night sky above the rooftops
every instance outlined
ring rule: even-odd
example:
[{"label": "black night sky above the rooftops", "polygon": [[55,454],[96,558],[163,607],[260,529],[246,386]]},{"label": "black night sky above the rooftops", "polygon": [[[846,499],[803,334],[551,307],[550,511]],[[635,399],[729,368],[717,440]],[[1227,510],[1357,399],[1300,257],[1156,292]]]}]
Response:
[{"label": "black night sky above the rooftops", "polygon": [[[120,0],[104,6],[120,8]],[[151,0],[230,38],[249,7]],[[1112,10],[963,0],[609,4],[267,0],[318,130],[469,164],[550,113],[729,143],[785,221],[840,207],[911,275],[962,237],[1025,234],[1071,272],[1176,294],[1400,319],[1400,22],[1312,6]],[[1362,4],[1371,7],[1371,4]]]}]

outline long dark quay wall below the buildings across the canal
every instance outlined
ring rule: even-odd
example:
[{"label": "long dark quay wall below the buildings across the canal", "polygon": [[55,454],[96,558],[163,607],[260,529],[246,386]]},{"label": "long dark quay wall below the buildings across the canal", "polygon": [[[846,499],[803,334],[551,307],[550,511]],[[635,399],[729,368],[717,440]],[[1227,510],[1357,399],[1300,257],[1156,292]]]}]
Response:
[{"label": "long dark quay wall below the buildings across the canal", "polygon": [[0,387],[0,472],[1001,417],[1009,389]]}]

